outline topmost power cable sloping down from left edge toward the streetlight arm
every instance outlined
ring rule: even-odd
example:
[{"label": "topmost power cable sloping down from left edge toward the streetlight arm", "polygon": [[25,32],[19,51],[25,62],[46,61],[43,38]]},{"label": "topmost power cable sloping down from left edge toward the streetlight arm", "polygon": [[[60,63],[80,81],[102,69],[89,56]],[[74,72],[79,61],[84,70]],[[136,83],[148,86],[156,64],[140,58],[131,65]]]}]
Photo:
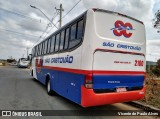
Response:
[{"label": "topmost power cable sloping down from left edge toward the streetlight arm", "polygon": [[38,20],[38,19],[35,19],[33,17],[26,16],[26,15],[23,15],[23,14],[20,14],[20,13],[17,13],[17,12],[13,12],[13,11],[10,11],[10,10],[4,9],[4,8],[0,8],[0,10],[11,13],[11,14],[14,14],[14,15],[17,15],[17,16],[20,16],[20,17],[23,17],[23,18],[29,18],[29,19],[35,20],[36,22],[41,23],[41,19]]}]

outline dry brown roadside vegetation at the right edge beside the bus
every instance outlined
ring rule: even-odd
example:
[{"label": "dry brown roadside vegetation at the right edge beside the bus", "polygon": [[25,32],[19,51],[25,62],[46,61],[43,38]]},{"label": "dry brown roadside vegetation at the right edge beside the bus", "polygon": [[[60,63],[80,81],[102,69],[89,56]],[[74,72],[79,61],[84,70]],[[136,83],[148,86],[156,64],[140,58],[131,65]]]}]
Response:
[{"label": "dry brown roadside vegetation at the right edge beside the bus", "polygon": [[146,75],[146,95],[141,102],[160,108],[160,59],[157,66],[150,67]]}]

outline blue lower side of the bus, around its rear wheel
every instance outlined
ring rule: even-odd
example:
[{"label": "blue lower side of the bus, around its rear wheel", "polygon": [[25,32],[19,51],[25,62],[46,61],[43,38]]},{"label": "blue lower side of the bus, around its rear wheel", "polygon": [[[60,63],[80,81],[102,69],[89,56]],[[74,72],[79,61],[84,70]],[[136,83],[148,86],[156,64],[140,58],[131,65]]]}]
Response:
[{"label": "blue lower side of the bus, around its rear wheel", "polygon": [[84,85],[84,74],[41,68],[41,73],[37,73],[37,78],[43,84],[45,84],[46,74],[50,74],[52,90],[75,103],[81,104],[81,85]]}]

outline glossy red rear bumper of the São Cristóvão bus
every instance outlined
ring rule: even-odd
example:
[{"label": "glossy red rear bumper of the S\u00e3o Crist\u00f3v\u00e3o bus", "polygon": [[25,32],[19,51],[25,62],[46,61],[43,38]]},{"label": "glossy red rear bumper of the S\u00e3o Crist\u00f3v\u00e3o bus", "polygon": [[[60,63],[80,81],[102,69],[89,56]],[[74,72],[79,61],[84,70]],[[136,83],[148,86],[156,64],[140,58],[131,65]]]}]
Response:
[{"label": "glossy red rear bumper of the S\u00e3o Crist\u00f3v\u00e3o bus", "polygon": [[83,107],[113,104],[118,102],[128,102],[140,100],[145,95],[145,87],[142,90],[128,91],[121,93],[94,93],[93,89],[86,89],[81,86],[81,105]]}]

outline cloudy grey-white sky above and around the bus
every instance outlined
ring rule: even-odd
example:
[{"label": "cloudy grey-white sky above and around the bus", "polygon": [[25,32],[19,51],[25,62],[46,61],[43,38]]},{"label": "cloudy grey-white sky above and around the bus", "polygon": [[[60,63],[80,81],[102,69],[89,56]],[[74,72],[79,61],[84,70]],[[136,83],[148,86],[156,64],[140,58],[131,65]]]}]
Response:
[{"label": "cloudy grey-white sky above and around the bus", "polygon": [[[59,15],[55,9],[63,5],[64,16],[79,0],[1,0],[0,1],[0,59],[21,58],[30,53],[31,48],[56,28],[37,9],[39,8],[58,27]],[[145,24],[148,61],[160,59],[160,33],[152,22],[160,0],[81,0],[62,19],[62,25],[74,19],[89,8],[101,8],[126,14]]]}]

